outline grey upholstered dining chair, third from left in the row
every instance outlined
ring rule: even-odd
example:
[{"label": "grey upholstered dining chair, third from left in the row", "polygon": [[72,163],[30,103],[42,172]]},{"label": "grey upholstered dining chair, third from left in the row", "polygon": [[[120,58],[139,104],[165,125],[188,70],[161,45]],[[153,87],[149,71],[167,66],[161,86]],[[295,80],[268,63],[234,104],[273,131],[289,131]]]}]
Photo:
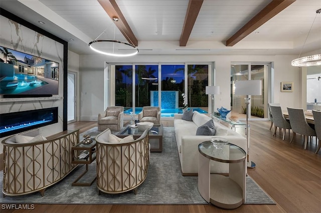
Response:
[{"label": "grey upholstered dining chair, third from left in the row", "polygon": [[302,134],[304,135],[304,149],[306,149],[308,136],[316,136],[315,130],[307,124],[302,108],[287,107],[287,112],[289,113],[292,127],[292,138],[290,143],[293,141],[295,133]]}]

